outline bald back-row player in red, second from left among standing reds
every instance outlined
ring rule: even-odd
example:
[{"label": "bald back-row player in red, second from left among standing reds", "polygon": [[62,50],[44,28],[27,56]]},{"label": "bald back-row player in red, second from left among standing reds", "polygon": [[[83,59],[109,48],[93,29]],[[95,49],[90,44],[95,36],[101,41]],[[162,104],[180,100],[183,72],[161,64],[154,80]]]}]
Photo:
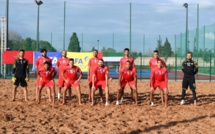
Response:
[{"label": "bald back-row player in red, second from left among standing reds", "polygon": [[[67,57],[67,52],[62,52],[62,57],[57,60],[56,68],[59,70],[59,78],[58,78],[58,95],[57,98],[60,100],[61,88],[64,87],[64,79],[62,76],[63,70],[66,66],[68,66],[69,58]],[[69,89],[69,96],[71,97],[71,89]]]}]

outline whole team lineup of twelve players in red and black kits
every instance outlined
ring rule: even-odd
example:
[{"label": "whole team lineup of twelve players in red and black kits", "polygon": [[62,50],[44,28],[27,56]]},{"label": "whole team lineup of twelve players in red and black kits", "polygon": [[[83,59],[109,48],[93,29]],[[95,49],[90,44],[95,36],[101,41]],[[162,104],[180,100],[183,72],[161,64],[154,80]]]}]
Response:
[{"label": "whole team lineup of twelve players in red and black kits", "polygon": [[[27,82],[29,81],[29,67],[28,60],[24,58],[24,50],[19,51],[19,57],[15,60],[13,65],[13,91],[12,100],[15,101],[16,89],[21,85],[24,89],[25,101],[27,99]],[[37,80],[36,80],[36,103],[39,104],[41,100],[41,91],[44,87],[47,87],[47,94],[49,101],[55,104],[55,83],[54,77],[57,74],[56,69],[59,72],[58,78],[58,93],[57,99],[61,99],[62,94],[62,104],[65,104],[66,92],[70,91],[71,86],[76,88],[79,105],[81,103],[81,85],[80,80],[83,76],[81,69],[74,65],[74,59],[67,57],[67,52],[62,52],[62,57],[58,59],[56,63],[56,69],[52,67],[52,60],[47,57],[47,50],[41,50],[41,57],[36,60],[35,63],[37,70]],[[167,107],[168,102],[168,72],[166,69],[165,61],[159,57],[159,52],[155,50],[153,52],[153,57],[149,61],[149,67],[151,69],[150,75],[150,104],[154,105],[154,91],[156,88],[160,89],[162,103]],[[189,88],[193,92],[194,105],[196,105],[196,87],[195,87],[195,74],[198,72],[197,63],[192,60],[192,53],[187,53],[187,59],[182,63],[182,71],[184,73],[184,78],[182,82],[182,97],[181,105],[184,104],[184,98],[186,95],[186,90]],[[129,49],[124,49],[124,57],[121,58],[119,64],[119,80],[117,88],[117,100],[116,105],[119,105],[120,101],[123,100],[124,89],[128,84],[131,89],[131,96],[138,104],[138,89],[137,89],[137,73],[134,64],[134,60],[129,56]],[[89,81],[89,95],[88,100],[91,102],[91,106],[95,104],[95,91],[99,89],[99,95],[102,101],[102,90],[105,91],[105,106],[109,105],[109,89],[108,83],[112,80],[108,76],[109,70],[108,66],[104,65],[103,59],[98,58],[98,51],[93,51],[93,58],[89,60],[88,63],[88,81]]]}]

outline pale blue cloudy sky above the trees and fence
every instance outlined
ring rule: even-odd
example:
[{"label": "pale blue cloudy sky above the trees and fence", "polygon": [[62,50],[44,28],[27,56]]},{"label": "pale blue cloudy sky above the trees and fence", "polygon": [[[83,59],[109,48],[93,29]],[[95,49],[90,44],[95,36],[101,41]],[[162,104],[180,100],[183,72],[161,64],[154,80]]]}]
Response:
[{"label": "pale blue cloudy sky above the trees and fence", "polygon": [[[0,0],[0,16],[5,15],[5,1]],[[23,38],[36,39],[37,6],[34,0],[9,0],[9,30],[16,31]],[[200,5],[199,27],[200,47],[203,37],[206,47],[214,41],[215,0],[67,0],[66,1],[66,48],[73,32],[76,32],[84,51],[92,47],[114,47],[122,51],[131,44],[132,50],[147,53],[156,48],[159,35],[164,43],[168,38],[173,50],[180,46],[180,33],[185,32],[186,10],[189,4],[189,42],[193,48],[197,27],[197,3]],[[64,3],[62,0],[43,0],[40,6],[40,39],[47,40],[63,49]],[[206,32],[203,34],[203,26]],[[143,37],[145,35],[145,44]],[[176,35],[176,41],[174,36]],[[184,41],[184,36],[181,37]],[[98,42],[99,40],[99,42]]]}]

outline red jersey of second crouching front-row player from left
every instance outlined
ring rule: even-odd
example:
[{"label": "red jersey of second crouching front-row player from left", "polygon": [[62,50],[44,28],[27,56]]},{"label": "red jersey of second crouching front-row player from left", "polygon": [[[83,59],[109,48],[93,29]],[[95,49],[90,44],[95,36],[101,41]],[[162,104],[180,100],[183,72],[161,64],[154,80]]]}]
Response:
[{"label": "red jersey of second crouching front-row player from left", "polygon": [[81,69],[78,66],[73,66],[72,68],[67,66],[63,70],[65,78],[71,81],[76,81],[78,79],[77,73],[83,75]]}]

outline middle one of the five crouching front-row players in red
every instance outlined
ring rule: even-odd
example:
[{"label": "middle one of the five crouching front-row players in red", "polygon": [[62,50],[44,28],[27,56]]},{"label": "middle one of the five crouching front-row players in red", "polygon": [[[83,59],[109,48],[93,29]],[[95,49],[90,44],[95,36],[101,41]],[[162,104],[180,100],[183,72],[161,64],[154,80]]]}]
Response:
[{"label": "middle one of the five crouching front-row players in red", "polygon": [[[92,72],[92,104],[94,105],[95,100],[95,91],[97,88],[101,88],[105,90],[105,96],[106,96],[106,103],[105,106],[108,106],[108,100],[109,100],[109,89],[108,89],[108,67],[104,65],[104,60],[99,59],[97,67]],[[100,94],[101,95],[101,94]]]}]

